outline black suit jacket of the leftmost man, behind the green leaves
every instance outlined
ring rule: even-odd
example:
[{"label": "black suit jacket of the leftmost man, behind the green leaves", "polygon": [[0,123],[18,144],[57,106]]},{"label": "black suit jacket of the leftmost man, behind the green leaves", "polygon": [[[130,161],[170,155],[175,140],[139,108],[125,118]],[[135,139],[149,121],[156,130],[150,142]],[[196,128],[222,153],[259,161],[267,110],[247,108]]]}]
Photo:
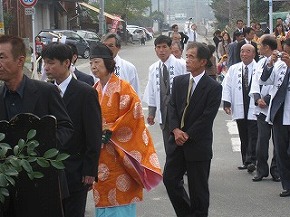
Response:
[{"label": "black suit jacket of the leftmost man, behind the green leaves", "polygon": [[[22,113],[32,113],[40,118],[53,115],[57,120],[57,143],[63,147],[73,133],[72,121],[69,118],[65,105],[57,87],[51,83],[32,80],[24,75],[25,87],[23,95]],[[7,120],[4,104],[4,86],[0,87],[0,120]]]}]

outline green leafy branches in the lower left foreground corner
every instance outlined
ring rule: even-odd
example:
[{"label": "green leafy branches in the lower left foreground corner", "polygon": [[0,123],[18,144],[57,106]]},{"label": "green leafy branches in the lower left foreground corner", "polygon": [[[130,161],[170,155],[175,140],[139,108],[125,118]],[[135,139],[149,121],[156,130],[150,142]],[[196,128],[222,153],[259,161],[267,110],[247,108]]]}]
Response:
[{"label": "green leafy branches in the lower left foreground corner", "polygon": [[3,203],[5,197],[9,196],[7,190],[9,185],[15,185],[15,180],[21,171],[25,171],[28,177],[33,179],[42,178],[43,174],[34,171],[34,165],[41,167],[53,166],[56,169],[64,169],[62,161],[69,157],[68,154],[59,153],[55,148],[47,150],[43,156],[38,156],[36,147],[39,142],[33,139],[36,130],[27,133],[26,140],[19,139],[18,144],[13,148],[2,141],[5,134],[0,133],[0,202]]}]

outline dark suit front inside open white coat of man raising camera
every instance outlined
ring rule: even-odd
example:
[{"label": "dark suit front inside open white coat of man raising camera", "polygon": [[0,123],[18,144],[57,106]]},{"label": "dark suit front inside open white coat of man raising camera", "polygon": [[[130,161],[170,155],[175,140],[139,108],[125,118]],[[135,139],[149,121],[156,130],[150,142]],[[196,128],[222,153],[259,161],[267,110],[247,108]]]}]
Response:
[{"label": "dark suit front inside open white coat of man raising camera", "polygon": [[290,68],[287,69],[285,78],[279,87],[276,95],[273,98],[271,111],[270,111],[270,120],[273,122],[274,118],[279,110],[279,108],[282,106],[282,104],[285,101],[286,93],[287,93],[287,87],[289,83],[289,72]]}]

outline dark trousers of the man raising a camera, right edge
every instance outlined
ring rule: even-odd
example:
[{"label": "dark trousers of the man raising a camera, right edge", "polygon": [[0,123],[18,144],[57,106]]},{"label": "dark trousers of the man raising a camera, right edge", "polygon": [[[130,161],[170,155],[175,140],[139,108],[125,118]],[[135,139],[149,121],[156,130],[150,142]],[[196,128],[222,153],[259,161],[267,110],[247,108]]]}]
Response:
[{"label": "dark trousers of the man raising a camera, right edge", "polygon": [[275,116],[273,131],[282,187],[290,190],[290,125],[283,125],[283,109],[278,110]]}]

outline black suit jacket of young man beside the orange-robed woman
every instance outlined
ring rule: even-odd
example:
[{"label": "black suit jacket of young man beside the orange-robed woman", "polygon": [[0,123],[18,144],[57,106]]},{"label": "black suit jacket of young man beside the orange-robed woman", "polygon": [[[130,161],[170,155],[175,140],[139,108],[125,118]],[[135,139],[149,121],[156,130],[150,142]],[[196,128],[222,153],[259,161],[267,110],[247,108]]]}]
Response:
[{"label": "black suit jacket of young man beside the orange-robed woman", "polygon": [[70,154],[64,162],[69,191],[81,190],[83,176],[96,176],[102,143],[101,108],[97,91],[84,82],[71,79],[63,95],[74,134],[63,152]]}]

